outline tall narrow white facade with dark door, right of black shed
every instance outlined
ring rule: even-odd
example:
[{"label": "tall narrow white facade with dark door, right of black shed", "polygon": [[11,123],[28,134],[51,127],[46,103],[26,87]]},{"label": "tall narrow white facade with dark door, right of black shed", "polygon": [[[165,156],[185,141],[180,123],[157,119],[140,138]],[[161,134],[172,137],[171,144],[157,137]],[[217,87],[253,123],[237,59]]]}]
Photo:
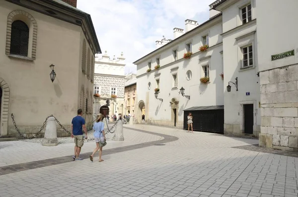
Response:
[{"label": "tall narrow white facade with dark door, right of black shed", "polygon": [[[231,91],[224,89],[224,131],[227,134],[254,134],[260,132],[260,84],[258,77],[258,53],[255,0],[225,0],[217,10],[223,13],[224,84],[235,82],[238,91],[230,83]],[[241,11],[248,14],[242,21]],[[251,10],[251,11],[249,11]],[[243,14],[245,15],[245,12]],[[251,12],[251,14],[250,14]],[[249,17],[251,15],[251,17]],[[248,50],[248,61],[243,54]],[[253,114],[245,117],[244,108],[251,107]],[[246,119],[250,116],[253,120]],[[245,130],[245,121],[253,121],[252,130]]]}]

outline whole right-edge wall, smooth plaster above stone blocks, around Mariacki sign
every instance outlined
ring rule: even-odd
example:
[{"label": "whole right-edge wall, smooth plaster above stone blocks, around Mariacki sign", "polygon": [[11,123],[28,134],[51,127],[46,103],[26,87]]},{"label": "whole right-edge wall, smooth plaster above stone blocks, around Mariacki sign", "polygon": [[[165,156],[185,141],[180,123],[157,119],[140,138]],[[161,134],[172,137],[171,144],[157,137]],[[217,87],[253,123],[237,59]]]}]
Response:
[{"label": "whole right-edge wall, smooth plaster above stone blocks, around Mariacki sign", "polygon": [[257,0],[257,8],[258,40],[262,41],[258,43],[262,124],[259,144],[297,151],[298,1]]}]

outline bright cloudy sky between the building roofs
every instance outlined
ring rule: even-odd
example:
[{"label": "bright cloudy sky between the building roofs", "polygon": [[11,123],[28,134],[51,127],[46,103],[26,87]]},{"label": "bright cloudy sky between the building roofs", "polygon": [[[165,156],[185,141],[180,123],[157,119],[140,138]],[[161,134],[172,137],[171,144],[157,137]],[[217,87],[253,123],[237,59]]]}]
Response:
[{"label": "bright cloudy sky between the building roofs", "polygon": [[185,30],[185,20],[201,24],[209,19],[215,0],[77,0],[77,8],[91,15],[97,39],[110,58],[126,58],[125,73],[136,73],[136,60],[156,49],[155,41],[173,39],[173,28]]}]

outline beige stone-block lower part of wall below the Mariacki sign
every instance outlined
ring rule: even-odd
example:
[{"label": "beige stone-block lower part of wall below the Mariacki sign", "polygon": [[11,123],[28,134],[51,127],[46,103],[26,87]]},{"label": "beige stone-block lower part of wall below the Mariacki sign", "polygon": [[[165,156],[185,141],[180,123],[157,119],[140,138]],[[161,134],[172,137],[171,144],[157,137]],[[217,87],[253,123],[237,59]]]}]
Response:
[{"label": "beige stone-block lower part of wall below the Mariacki sign", "polygon": [[259,145],[298,150],[298,65],[260,72]]}]

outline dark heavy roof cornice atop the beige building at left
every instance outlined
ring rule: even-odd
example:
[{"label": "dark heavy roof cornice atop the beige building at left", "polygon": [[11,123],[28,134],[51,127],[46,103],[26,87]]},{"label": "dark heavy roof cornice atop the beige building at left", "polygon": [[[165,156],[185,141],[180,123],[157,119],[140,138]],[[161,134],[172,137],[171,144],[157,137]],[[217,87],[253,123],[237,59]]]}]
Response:
[{"label": "dark heavy roof cornice atop the beige building at left", "polygon": [[[101,54],[101,49],[97,40],[95,29],[90,14],[85,13],[75,7],[66,6],[54,0],[6,0],[10,3],[26,7],[39,13],[57,18],[82,28],[82,31],[95,55]],[[56,14],[50,14],[46,10],[51,10]]]}]

